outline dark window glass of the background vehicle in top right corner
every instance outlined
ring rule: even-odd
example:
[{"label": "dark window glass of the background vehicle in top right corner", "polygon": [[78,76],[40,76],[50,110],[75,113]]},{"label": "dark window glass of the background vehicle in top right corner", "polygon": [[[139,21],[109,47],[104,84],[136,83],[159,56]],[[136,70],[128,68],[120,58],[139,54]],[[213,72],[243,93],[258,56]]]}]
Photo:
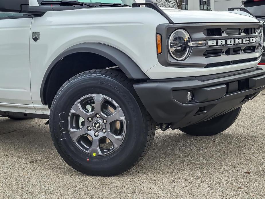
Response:
[{"label": "dark window glass of the background vehicle in top right corner", "polygon": [[247,1],[242,7],[245,7],[257,18],[265,16],[265,1]]}]

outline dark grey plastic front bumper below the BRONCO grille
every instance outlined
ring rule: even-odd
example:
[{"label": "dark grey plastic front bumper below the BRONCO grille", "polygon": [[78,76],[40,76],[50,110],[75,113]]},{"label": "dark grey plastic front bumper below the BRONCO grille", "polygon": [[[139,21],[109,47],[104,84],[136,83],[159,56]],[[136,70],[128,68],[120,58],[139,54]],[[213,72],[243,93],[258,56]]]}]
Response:
[{"label": "dark grey plastic front bumper below the BRONCO grille", "polygon": [[[157,123],[182,128],[234,110],[265,89],[265,66],[168,81],[134,84],[142,103]],[[187,100],[193,91],[192,102]]]}]

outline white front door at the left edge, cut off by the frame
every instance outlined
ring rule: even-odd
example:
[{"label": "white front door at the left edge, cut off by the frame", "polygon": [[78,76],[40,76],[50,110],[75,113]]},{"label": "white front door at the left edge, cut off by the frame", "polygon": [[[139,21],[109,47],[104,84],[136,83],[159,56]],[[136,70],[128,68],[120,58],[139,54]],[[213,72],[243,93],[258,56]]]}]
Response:
[{"label": "white front door at the left edge, cut off by the frame", "polygon": [[0,12],[0,103],[32,104],[31,23],[30,15]]}]

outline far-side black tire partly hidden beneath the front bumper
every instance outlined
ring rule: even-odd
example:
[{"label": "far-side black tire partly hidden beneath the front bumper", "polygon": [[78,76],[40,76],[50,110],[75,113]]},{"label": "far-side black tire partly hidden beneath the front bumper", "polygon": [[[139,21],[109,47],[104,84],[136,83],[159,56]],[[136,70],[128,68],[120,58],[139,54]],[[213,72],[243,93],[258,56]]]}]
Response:
[{"label": "far-side black tire partly hidden beneath the front bumper", "polygon": [[241,107],[226,114],[212,118],[211,120],[199,122],[191,126],[180,128],[184,133],[195,136],[211,136],[223,132],[229,128],[240,114]]}]

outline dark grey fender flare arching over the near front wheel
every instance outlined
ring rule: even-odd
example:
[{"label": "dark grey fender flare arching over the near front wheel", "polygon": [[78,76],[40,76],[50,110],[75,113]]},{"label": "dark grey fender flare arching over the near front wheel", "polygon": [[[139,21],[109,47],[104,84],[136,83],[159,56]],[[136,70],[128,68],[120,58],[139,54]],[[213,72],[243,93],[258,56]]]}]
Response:
[{"label": "dark grey fender flare arching over the near front wheel", "polygon": [[40,88],[40,97],[42,104],[46,105],[46,102],[44,100],[44,89],[53,67],[55,67],[56,63],[62,60],[62,58],[64,58],[65,56],[76,52],[91,52],[104,56],[105,58],[115,63],[129,79],[149,79],[146,74],[144,74],[144,72],[140,69],[140,67],[127,54],[113,46],[92,42],[76,44],[74,46],[71,46],[70,48],[67,48],[61,54],[59,54],[46,70]]}]

